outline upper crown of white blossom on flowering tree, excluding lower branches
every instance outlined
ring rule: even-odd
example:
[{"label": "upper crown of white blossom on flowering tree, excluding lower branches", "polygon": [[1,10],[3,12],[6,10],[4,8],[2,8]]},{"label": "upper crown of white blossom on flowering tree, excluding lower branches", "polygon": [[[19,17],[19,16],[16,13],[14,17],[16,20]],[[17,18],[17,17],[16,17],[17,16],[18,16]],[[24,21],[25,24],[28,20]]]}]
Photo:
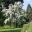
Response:
[{"label": "upper crown of white blossom on flowering tree, excluding lower branches", "polygon": [[9,4],[9,9],[6,9],[4,7],[4,9],[2,10],[2,12],[4,13],[3,15],[5,15],[7,18],[19,18],[19,16],[21,15],[21,9],[22,9],[22,3],[21,2],[15,2],[14,5]]}]

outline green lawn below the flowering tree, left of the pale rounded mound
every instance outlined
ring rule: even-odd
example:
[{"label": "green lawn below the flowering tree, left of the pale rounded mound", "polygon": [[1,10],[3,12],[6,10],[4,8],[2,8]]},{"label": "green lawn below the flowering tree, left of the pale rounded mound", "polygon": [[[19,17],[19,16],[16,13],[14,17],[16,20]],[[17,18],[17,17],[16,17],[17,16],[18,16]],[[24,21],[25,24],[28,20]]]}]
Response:
[{"label": "green lawn below the flowering tree, left of the pale rounded mound", "polygon": [[21,28],[15,28],[11,26],[0,26],[0,32],[20,32]]}]

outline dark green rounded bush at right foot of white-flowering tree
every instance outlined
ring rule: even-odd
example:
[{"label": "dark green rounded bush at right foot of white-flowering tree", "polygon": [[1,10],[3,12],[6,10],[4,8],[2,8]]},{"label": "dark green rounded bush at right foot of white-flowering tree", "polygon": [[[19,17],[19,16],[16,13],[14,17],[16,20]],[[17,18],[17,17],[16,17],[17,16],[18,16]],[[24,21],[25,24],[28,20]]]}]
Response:
[{"label": "dark green rounded bush at right foot of white-flowering tree", "polygon": [[21,16],[19,17],[19,19],[16,20],[16,27],[17,28],[21,28],[23,27],[24,24],[26,24],[29,20],[24,17],[24,16]]}]

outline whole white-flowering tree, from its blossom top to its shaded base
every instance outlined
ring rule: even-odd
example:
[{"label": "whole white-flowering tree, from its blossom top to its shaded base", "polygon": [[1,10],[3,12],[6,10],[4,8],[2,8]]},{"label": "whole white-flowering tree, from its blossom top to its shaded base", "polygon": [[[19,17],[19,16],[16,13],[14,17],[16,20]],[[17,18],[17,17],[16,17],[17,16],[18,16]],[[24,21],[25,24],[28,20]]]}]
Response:
[{"label": "whole white-flowering tree, from its blossom top to its shaded base", "polygon": [[6,7],[3,7],[2,12],[3,12],[3,15],[6,17],[6,19],[4,20],[4,23],[12,26],[16,25],[16,27],[21,26],[22,22],[20,21],[20,18],[23,16],[21,15],[22,6],[23,6],[23,3],[21,1],[16,1],[14,5],[9,4],[8,9],[6,9]]}]

